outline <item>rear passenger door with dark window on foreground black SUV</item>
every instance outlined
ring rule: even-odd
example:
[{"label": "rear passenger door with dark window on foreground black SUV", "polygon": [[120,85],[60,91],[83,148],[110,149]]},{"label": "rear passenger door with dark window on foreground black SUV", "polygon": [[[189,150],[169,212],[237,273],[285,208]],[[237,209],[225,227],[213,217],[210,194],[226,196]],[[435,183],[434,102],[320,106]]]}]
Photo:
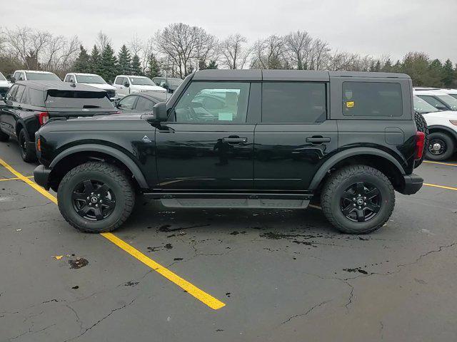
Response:
[{"label": "rear passenger door with dark window on foreground black SUV", "polygon": [[308,189],[338,146],[327,103],[328,82],[263,81],[254,145],[256,190]]}]

